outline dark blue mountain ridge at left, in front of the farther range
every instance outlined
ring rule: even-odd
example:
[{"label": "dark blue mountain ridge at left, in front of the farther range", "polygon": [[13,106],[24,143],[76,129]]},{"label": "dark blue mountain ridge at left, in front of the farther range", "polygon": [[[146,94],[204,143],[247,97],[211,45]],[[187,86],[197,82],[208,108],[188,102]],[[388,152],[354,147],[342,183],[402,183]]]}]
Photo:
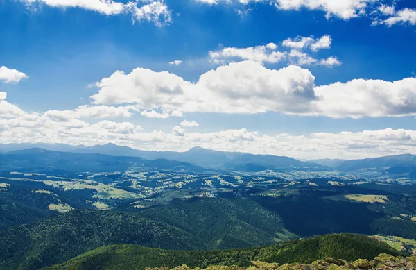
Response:
[{"label": "dark blue mountain ridge at left, in front of the farther range", "polygon": [[207,172],[207,169],[175,160],[146,160],[138,157],[118,157],[98,153],[70,153],[25,149],[0,153],[0,170],[107,172],[128,169],[159,169],[168,171]]}]

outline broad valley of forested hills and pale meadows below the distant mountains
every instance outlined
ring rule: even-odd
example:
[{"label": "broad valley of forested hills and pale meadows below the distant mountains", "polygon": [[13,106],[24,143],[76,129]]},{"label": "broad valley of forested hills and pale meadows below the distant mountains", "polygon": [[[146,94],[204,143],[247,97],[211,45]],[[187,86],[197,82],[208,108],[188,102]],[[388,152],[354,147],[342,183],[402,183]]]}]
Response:
[{"label": "broad valley of forested hills and pale meadows below the distant mountains", "polygon": [[114,244],[214,251],[332,233],[377,235],[395,252],[415,248],[416,185],[385,167],[338,171],[312,162],[283,166],[272,158],[274,169],[233,160],[235,170],[224,170],[43,149],[1,156],[3,268],[50,267]]}]

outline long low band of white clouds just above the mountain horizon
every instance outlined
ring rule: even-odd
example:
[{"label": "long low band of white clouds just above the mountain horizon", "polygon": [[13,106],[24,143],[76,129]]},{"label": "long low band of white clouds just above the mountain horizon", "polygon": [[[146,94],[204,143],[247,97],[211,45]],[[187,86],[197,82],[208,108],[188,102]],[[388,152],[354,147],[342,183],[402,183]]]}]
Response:
[{"label": "long low band of white clouds just above the mountain horizon", "polygon": [[379,155],[416,153],[416,130],[391,129],[312,133],[309,135],[260,135],[245,128],[211,133],[186,133],[175,126],[171,133],[146,132],[129,122],[100,121],[90,124],[79,119],[55,121],[26,114],[0,118],[2,143],[44,142],[105,144],[112,142],[144,150],[185,151],[202,146],[220,151],[288,155],[295,158],[367,158]]}]

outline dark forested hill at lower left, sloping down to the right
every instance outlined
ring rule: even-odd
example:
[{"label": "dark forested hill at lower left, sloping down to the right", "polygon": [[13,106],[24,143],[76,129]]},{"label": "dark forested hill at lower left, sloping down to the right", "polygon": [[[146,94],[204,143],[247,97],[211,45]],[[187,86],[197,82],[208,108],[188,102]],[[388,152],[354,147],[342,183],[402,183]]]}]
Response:
[{"label": "dark forested hill at lower left, sloping down to the right", "polygon": [[166,223],[124,212],[73,210],[0,232],[0,266],[39,269],[111,244],[202,249],[199,239]]}]

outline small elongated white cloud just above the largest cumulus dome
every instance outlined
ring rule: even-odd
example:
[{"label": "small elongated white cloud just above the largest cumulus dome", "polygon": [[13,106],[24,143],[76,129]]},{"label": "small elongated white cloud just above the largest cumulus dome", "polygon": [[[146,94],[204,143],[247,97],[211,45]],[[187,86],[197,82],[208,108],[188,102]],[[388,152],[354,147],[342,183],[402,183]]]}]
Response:
[{"label": "small elongated white cloud just above the largest cumulus dome", "polygon": [[218,64],[236,58],[261,63],[277,63],[286,58],[286,53],[275,51],[276,49],[277,45],[274,43],[269,43],[266,46],[262,45],[248,48],[227,47],[219,51],[210,51],[209,57]]}]

